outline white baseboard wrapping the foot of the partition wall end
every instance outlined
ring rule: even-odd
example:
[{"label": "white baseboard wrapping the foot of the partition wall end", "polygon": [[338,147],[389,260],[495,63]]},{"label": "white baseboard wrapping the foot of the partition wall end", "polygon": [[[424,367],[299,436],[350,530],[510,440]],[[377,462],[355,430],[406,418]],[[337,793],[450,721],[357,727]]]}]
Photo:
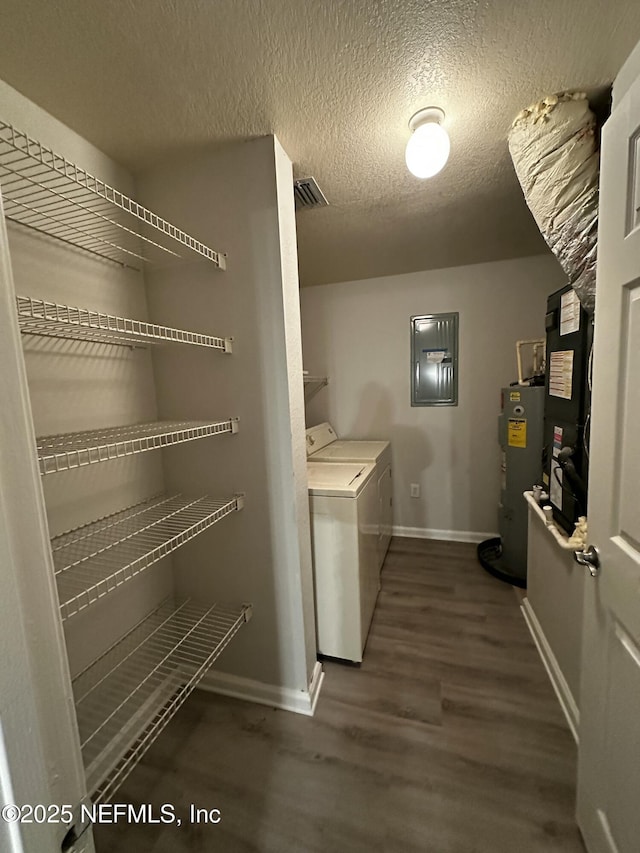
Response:
[{"label": "white baseboard wrapping the foot of the partition wall end", "polygon": [[211,693],[220,693],[222,696],[232,696],[234,699],[270,705],[273,708],[281,708],[283,711],[293,711],[296,714],[312,717],[318,704],[323,681],[322,664],[316,661],[308,690],[265,684],[263,681],[241,678],[217,670],[210,670],[198,686]]}]

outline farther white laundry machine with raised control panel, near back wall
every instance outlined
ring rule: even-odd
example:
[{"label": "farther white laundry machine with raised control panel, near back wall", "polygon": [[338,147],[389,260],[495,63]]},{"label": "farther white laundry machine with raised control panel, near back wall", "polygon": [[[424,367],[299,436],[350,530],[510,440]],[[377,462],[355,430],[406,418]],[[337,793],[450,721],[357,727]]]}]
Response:
[{"label": "farther white laundry machine with raised control panel, near back wall", "polygon": [[309,462],[373,462],[378,484],[378,568],[382,568],[391,542],[393,499],[391,483],[391,443],[339,439],[329,423],[307,430]]}]

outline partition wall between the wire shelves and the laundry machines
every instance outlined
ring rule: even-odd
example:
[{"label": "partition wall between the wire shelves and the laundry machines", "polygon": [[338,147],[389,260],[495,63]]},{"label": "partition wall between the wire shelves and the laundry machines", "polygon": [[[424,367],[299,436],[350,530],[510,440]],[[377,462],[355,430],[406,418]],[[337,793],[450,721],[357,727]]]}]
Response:
[{"label": "partition wall between the wire shelves and the laundry machines", "polygon": [[[309,710],[316,668],[304,401],[291,164],[274,137],[225,146],[142,174],[140,200],[224,247],[224,273],[202,265],[147,273],[155,322],[234,335],[233,356],[153,353],[159,415],[237,416],[229,449],[186,444],[163,457],[168,487],[246,491],[244,510],[175,555],[179,588],[256,606],[208,683]],[[220,674],[224,670],[225,675]],[[318,672],[319,674],[319,672]]]}]

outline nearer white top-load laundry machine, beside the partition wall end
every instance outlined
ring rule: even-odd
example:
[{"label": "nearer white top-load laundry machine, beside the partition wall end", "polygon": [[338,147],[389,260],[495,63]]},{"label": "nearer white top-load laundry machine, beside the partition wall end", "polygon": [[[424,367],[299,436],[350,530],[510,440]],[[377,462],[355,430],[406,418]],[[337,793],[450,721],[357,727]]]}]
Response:
[{"label": "nearer white top-load laundry machine, beside the partition wall end", "polygon": [[320,654],[362,661],[380,588],[372,463],[308,462]]}]

